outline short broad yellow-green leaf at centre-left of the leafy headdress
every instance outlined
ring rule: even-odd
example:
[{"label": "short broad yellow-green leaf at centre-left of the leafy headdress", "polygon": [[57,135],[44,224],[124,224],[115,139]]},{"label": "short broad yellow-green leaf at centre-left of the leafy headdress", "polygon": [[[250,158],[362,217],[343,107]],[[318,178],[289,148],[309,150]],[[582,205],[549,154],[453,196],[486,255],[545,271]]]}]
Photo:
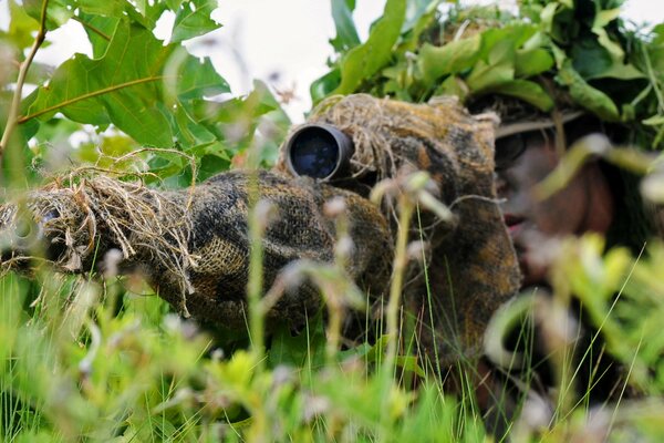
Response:
[{"label": "short broad yellow-green leaf at centre-left of the leafy headdress", "polygon": [[417,62],[426,83],[432,83],[444,75],[470,69],[477,61],[480,37],[457,40],[444,47],[424,44]]}]

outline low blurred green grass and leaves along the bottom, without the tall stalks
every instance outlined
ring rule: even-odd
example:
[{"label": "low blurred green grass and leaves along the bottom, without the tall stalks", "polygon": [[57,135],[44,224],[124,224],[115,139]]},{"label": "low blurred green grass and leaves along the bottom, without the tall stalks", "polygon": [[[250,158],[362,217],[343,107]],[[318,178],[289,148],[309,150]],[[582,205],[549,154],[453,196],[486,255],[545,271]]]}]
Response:
[{"label": "low blurred green grass and leaves along the bottom, without the tall stalks", "polygon": [[[552,300],[583,302],[606,352],[630,373],[624,389],[632,399],[590,408],[590,388],[575,383],[575,368],[564,368],[572,375],[558,389],[568,396],[558,395],[552,422],[542,423],[523,396],[515,440],[664,436],[664,245],[650,245],[640,258],[625,249],[603,256],[602,248],[594,236],[561,245],[556,269],[564,278]],[[297,337],[277,332],[258,364],[257,353],[219,348],[158,297],[114,281],[8,274],[0,291],[6,442],[491,439],[475,387],[449,396],[436,377],[418,377],[403,360],[385,383],[376,364],[383,341],[330,360],[321,316]]]}]

